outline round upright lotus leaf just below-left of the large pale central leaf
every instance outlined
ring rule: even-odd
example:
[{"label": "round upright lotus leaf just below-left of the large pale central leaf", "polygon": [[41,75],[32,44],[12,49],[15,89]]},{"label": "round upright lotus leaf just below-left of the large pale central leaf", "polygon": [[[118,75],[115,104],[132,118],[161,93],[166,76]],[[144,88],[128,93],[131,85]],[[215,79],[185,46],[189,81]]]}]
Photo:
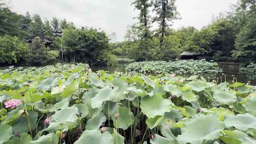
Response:
[{"label": "round upright lotus leaf just below-left of the large pale central leaf", "polygon": [[[119,117],[115,117],[115,114],[119,114]],[[111,118],[116,128],[126,130],[134,123],[134,115],[131,111],[129,111],[129,108],[120,107],[118,110],[116,110],[115,114],[111,115]]]}]

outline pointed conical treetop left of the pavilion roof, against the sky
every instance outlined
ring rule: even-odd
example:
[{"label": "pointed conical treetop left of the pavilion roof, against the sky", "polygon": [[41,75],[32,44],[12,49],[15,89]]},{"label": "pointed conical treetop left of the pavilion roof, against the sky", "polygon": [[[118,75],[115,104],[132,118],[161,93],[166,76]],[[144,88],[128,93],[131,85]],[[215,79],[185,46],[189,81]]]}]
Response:
[{"label": "pointed conical treetop left of the pavilion roof, against the sky", "polygon": [[29,33],[32,37],[39,36],[45,32],[45,24],[43,23],[41,17],[35,14],[32,18],[32,22],[29,24]]}]

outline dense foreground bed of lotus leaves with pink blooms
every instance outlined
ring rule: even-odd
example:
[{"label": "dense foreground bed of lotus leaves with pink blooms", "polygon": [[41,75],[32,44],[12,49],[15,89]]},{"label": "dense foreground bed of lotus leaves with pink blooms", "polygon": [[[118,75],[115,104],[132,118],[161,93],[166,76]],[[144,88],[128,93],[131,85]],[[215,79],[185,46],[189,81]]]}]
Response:
[{"label": "dense foreground bed of lotus leaves with pink blooms", "polygon": [[0,71],[0,144],[256,144],[256,86],[201,76]]}]

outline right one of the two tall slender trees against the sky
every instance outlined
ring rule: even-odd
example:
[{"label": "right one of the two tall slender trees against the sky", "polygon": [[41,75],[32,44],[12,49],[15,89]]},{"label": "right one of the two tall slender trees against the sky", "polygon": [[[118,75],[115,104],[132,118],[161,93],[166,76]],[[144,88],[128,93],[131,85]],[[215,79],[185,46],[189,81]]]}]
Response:
[{"label": "right one of the two tall slender trees against the sky", "polygon": [[160,26],[160,46],[163,46],[167,29],[171,26],[171,22],[174,19],[179,18],[179,13],[175,6],[175,0],[154,0],[153,11],[156,13],[156,16],[153,18],[153,22],[158,22]]}]

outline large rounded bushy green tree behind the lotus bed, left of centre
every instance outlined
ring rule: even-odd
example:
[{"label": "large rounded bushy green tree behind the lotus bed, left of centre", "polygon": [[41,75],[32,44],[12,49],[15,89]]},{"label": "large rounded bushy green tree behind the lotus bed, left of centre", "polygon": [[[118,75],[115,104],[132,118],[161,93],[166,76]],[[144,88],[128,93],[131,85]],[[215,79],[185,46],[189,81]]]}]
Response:
[{"label": "large rounded bushy green tree behind the lotus bed, left of centre", "polygon": [[69,54],[70,60],[88,62],[90,65],[102,63],[109,47],[109,39],[105,32],[94,28],[64,30],[61,37],[63,46]]}]

